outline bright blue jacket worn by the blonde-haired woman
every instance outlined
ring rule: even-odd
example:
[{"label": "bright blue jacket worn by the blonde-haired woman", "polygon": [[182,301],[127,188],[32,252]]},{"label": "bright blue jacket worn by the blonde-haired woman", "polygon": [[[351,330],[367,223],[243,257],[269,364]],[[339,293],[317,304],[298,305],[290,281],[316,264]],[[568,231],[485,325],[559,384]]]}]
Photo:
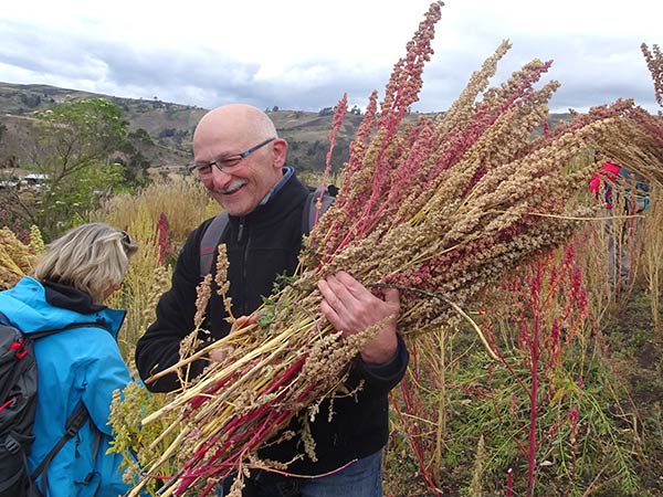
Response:
[{"label": "bright blue jacket worn by the blonde-haired woman", "polygon": [[[70,289],[70,295],[57,294],[62,300],[56,302],[61,305],[73,297],[77,303],[73,307],[81,308],[81,297],[85,300],[88,296]],[[44,286],[31,277],[0,292],[0,313],[25,334],[74,322],[96,322],[103,327],[67,329],[34,342],[39,383],[35,441],[28,458],[29,469],[32,472],[62,437],[65,421],[78,401],[85,403],[91,422],[102,433],[96,464],[95,431],[90,422],[62,447],[49,469],[46,497],[117,497],[129,488],[117,472],[122,456],[106,455],[112,440],[107,422],[113,391],[131,381],[116,341],[125,311],[88,304],[85,313],[56,307],[46,300]],[[92,480],[83,483],[91,473]],[[38,484],[41,488],[41,477]]]}]

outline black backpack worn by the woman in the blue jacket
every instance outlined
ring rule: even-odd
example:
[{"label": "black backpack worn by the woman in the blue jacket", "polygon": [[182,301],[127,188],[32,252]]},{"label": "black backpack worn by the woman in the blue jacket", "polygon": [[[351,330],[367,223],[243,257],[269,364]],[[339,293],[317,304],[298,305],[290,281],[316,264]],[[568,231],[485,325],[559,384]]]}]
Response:
[{"label": "black backpack worn by the woman in the blue jacket", "polygon": [[[0,315],[1,316],[1,315]],[[36,410],[36,361],[33,341],[65,329],[96,326],[98,324],[73,324],[64,328],[25,335],[0,321],[0,497],[33,497],[45,495],[49,465],[64,444],[71,440],[90,413],[80,402],[65,423],[65,433],[51,448],[41,464],[30,475],[28,454],[34,442],[32,426]],[[94,423],[91,423],[94,426]],[[95,426],[96,429],[96,426]],[[95,454],[101,441],[97,433]],[[40,494],[34,480],[42,475]],[[88,475],[92,478],[92,475]]]}]

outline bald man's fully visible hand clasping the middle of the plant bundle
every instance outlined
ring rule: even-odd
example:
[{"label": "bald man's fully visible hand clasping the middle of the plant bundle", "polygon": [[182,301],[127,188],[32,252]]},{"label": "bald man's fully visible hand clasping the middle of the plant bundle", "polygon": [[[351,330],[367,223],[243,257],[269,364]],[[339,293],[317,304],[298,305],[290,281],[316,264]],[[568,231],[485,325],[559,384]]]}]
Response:
[{"label": "bald man's fully visible hand clasping the middle of the plant bundle", "polygon": [[323,294],[323,316],[345,337],[364,331],[391,316],[376,337],[364,347],[361,359],[369,364],[382,364],[396,357],[396,320],[400,311],[400,295],[396,288],[387,288],[382,300],[352,276],[340,271],[318,282],[318,289]]}]

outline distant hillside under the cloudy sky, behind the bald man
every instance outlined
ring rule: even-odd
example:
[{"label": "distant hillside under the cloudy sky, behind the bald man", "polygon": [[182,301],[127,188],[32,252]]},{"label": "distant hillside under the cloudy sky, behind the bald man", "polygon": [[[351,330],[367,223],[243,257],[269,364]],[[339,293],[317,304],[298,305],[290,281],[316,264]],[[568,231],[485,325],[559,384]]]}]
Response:
[{"label": "distant hillside under the cloudy sky, behind the bald man", "polygon": [[[196,124],[207,109],[161,102],[159,99],[119,98],[90,92],[46,85],[15,85],[0,83],[0,165],[14,160],[18,165],[30,161],[31,145],[35,140],[31,114],[51,106],[81,98],[105,97],[120,106],[129,128],[145,129],[155,146],[143,154],[152,167],[181,167],[191,160],[191,138]],[[328,150],[332,129],[330,107],[318,113],[267,109],[278,135],[288,144],[288,162],[299,170],[320,170]],[[414,121],[418,114],[408,119]],[[551,116],[554,125],[568,115]],[[333,163],[339,167],[348,158],[348,146],[355,136],[361,116],[348,113],[339,131]],[[12,159],[13,158],[13,159]]]}]

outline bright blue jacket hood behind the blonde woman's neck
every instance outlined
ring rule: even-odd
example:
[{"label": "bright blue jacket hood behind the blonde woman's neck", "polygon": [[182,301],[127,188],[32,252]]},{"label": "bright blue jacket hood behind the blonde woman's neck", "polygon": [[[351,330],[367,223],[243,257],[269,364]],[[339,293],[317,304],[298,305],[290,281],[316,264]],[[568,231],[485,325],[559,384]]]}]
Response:
[{"label": "bright blue jacket hood behind the blonde woman's neck", "polygon": [[95,324],[114,337],[124,321],[125,311],[94,306],[90,314],[55,307],[46,300],[46,290],[36,279],[25,276],[14,287],[0,292],[0,313],[24,334],[63,328],[72,324]]}]

